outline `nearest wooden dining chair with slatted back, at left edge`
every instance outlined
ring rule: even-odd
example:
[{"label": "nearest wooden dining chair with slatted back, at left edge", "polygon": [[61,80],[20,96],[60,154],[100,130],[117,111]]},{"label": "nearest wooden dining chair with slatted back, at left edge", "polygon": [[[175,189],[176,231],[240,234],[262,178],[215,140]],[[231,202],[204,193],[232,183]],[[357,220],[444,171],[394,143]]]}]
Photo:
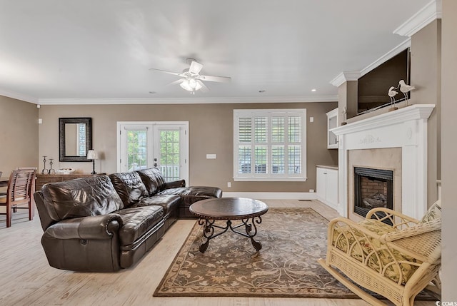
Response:
[{"label": "nearest wooden dining chair with slatted back, at left edge", "polygon": [[13,212],[18,209],[29,210],[29,220],[34,218],[34,207],[31,201],[31,186],[35,178],[36,170],[13,170],[9,175],[6,195],[0,195],[0,206],[6,207],[6,228],[11,226]]}]

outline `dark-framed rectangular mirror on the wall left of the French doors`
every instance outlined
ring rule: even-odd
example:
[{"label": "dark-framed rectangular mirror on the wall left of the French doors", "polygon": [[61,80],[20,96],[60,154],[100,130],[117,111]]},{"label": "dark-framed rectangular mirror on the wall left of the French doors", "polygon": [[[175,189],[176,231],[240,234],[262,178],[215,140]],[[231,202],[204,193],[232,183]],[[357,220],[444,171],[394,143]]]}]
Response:
[{"label": "dark-framed rectangular mirror on the wall left of the French doors", "polygon": [[59,118],[59,160],[92,161],[92,118]]}]

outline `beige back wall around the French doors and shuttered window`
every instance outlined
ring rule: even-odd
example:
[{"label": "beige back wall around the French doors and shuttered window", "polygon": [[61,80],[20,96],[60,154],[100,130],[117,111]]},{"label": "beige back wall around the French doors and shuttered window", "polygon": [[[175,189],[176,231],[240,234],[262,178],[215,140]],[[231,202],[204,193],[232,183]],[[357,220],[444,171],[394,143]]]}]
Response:
[{"label": "beige back wall around the French doors and shuttered window", "polygon": [[[231,192],[308,192],[316,189],[316,164],[336,165],[337,151],[326,148],[326,112],[334,103],[251,103],[183,105],[91,105],[41,106],[39,118],[39,160],[47,155],[56,168],[72,167],[91,172],[91,163],[59,163],[59,117],[91,117],[94,149],[103,153],[96,161],[96,172],[117,170],[117,121],[189,121],[189,180],[192,185],[216,185]],[[306,182],[233,182],[233,109],[306,108],[307,176]],[[216,160],[206,159],[217,154]],[[227,188],[231,182],[231,188]]]}]

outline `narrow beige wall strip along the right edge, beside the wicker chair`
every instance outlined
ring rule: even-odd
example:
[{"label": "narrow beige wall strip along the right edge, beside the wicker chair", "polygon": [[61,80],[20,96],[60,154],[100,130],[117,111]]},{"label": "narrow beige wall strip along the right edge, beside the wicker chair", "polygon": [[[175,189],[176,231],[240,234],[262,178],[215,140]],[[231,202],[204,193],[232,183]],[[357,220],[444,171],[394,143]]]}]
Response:
[{"label": "narrow beige wall strip along the right edge, beside the wicker chair", "polygon": [[456,301],[457,272],[457,177],[456,177],[456,131],[457,131],[457,1],[443,0],[442,62],[441,71],[441,199],[443,206],[443,301]]}]

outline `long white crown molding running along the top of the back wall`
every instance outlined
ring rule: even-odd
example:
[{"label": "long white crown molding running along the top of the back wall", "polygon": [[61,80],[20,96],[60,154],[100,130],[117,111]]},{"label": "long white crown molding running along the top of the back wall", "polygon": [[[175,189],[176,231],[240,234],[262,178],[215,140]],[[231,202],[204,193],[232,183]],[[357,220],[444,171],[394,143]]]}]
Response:
[{"label": "long white crown molding running along the top of the back wall", "polygon": [[41,105],[94,104],[222,104],[336,102],[338,96],[227,97],[227,98],[41,98]]}]

